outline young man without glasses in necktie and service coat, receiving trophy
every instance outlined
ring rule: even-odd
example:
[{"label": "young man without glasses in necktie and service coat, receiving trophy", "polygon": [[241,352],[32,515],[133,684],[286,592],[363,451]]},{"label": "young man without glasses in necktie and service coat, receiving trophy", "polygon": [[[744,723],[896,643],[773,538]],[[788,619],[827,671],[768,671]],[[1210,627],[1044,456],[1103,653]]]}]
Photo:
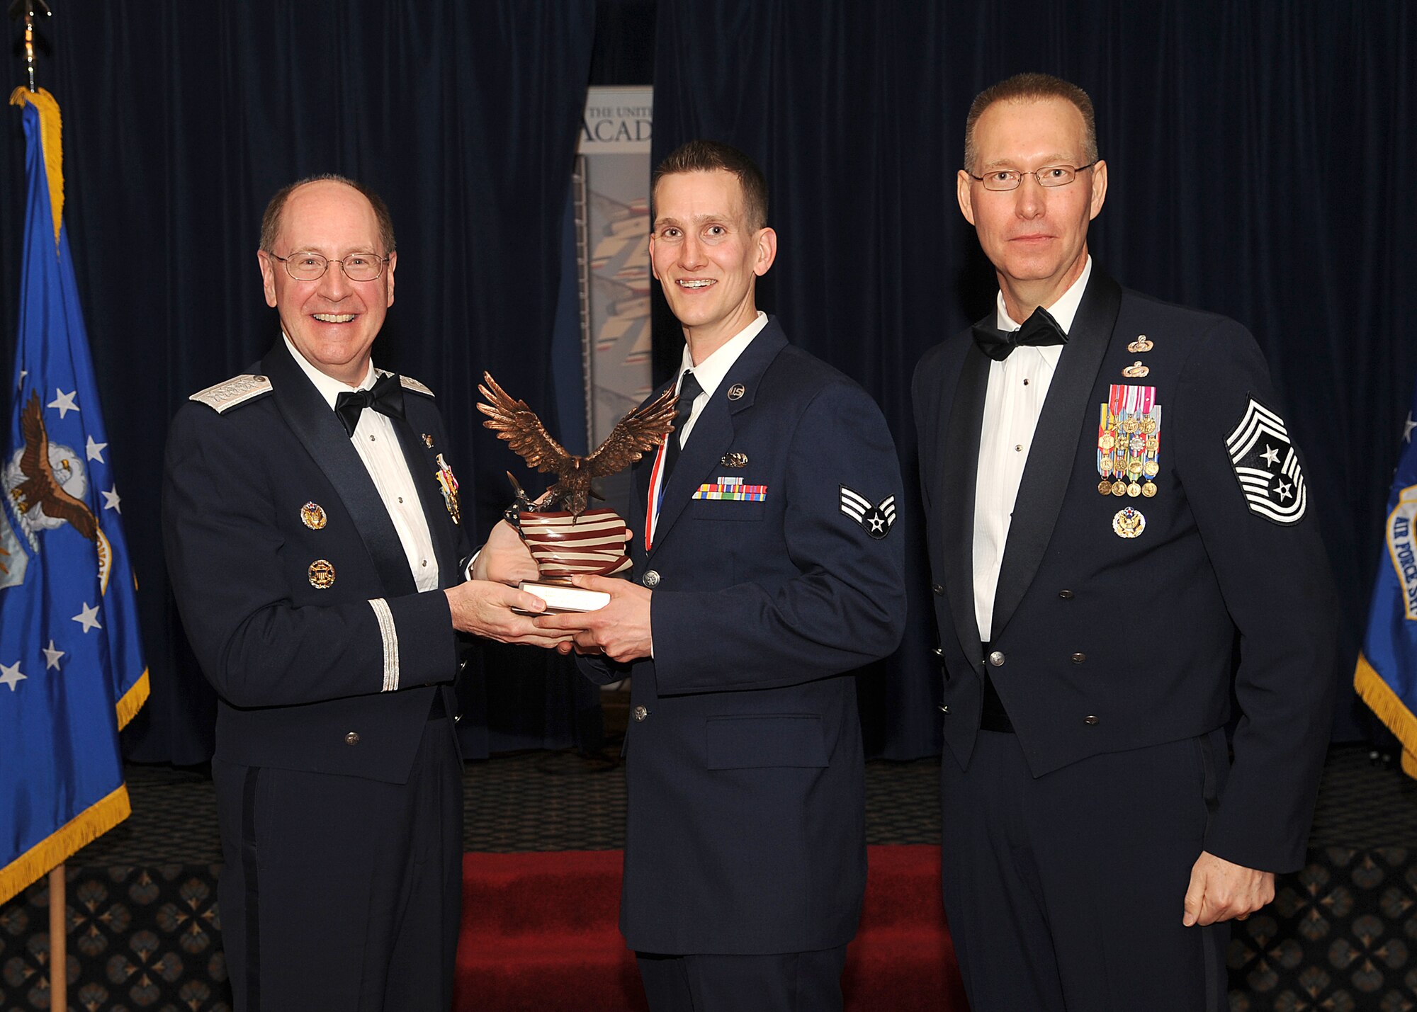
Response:
[{"label": "young man without glasses in necktie and service coat, receiving trophy", "polygon": [[690,142],[652,194],[679,420],[635,471],[633,580],[577,577],[611,602],[536,622],[632,676],[621,931],[650,1008],[839,1009],[866,886],[850,672],[904,628],[900,466],[876,403],[757,310],[752,160]]}]

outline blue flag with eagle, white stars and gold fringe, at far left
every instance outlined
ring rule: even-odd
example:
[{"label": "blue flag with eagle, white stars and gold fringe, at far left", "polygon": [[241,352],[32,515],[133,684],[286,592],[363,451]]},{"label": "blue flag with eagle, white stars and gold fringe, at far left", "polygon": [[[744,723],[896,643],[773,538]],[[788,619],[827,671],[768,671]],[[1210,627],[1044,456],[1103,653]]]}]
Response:
[{"label": "blue flag with eagle, white stars and gold fringe, at far left", "polygon": [[118,731],[147,699],[122,497],[64,228],[60,108],[16,89],[27,206],[0,448],[0,903],[128,818]]}]

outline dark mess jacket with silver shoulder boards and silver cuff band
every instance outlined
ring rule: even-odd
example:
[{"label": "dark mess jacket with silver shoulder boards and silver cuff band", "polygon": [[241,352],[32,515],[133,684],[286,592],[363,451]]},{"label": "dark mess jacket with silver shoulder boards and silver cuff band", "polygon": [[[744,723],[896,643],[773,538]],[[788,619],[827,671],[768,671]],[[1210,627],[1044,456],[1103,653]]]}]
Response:
[{"label": "dark mess jacket with silver shoulder boards and silver cuff band", "polygon": [[[456,713],[446,595],[417,592],[374,482],[283,342],[251,376],[194,397],[169,432],[163,530],[218,696],[217,757],[405,782],[434,693]],[[442,420],[407,378],[404,407],[394,428],[449,585],[469,551],[438,478]]]}]

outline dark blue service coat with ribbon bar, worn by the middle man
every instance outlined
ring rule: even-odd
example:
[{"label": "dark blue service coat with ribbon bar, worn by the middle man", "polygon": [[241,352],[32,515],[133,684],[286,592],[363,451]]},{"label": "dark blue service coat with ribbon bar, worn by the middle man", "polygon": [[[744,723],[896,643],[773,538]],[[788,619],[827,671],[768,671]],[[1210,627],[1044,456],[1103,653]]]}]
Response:
[{"label": "dark blue service coat with ribbon bar, worn by the middle man", "polygon": [[[843,945],[866,886],[850,672],[905,621],[886,421],[774,319],[696,420],[646,551],[652,468],[636,465],[631,527],[655,658],[582,659],[598,682],[633,676],[621,930],[666,954]],[[708,497],[723,479],[765,496]]]}]

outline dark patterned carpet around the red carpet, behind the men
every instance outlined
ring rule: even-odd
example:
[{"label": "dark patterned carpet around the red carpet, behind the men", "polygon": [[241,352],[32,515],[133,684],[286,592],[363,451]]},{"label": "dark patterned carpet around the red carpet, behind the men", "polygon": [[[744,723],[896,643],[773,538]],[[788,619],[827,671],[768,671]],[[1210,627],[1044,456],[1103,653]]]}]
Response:
[{"label": "dark patterned carpet around the red carpet, behind the men", "polygon": [[[133,815],[68,863],[69,1008],[228,1012],[215,876],[221,852],[201,771],[130,767]],[[871,843],[939,840],[938,760],[871,761]],[[463,778],[469,850],[623,843],[618,755],[519,753]],[[48,1009],[48,889],[0,906],[0,1012]],[[1233,1012],[1417,1009],[1417,782],[1360,747],[1329,754],[1309,865],[1238,927]]]}]

